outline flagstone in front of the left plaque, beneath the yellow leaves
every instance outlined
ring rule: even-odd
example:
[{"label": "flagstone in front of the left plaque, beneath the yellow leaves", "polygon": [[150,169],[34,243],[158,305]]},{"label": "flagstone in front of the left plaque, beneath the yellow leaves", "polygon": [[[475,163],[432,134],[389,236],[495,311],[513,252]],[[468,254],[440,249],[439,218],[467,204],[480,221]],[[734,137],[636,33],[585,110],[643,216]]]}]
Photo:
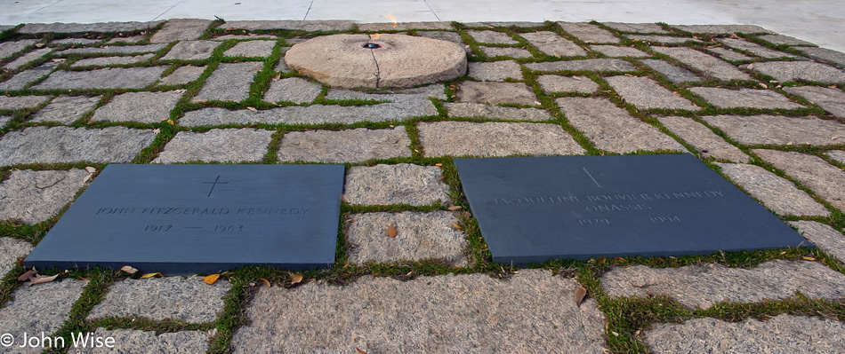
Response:
[{"label": "flagstone in front of the left plaque, beneath the yellow leaves", "polygon": [[231,287],[225,279],[210,286],[200,277],[124,279],[109,287],[87,319],[141,316],[154,321],[213,322],[223,311],[222,297]]}]

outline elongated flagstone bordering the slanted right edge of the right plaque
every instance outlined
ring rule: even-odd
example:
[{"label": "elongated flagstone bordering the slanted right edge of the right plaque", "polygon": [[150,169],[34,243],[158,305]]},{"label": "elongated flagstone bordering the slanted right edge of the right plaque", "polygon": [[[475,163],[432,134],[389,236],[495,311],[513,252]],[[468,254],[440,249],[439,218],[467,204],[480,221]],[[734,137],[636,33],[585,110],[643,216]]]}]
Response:
[{"label": "elongated flagstone bordering the slanted right edge of the right plaque", "polygon": [[744,163],[719,163],[722,173],[743,187],[766,208],[780,215],[830,216],[825,206],[782,177],[760,166]]}]

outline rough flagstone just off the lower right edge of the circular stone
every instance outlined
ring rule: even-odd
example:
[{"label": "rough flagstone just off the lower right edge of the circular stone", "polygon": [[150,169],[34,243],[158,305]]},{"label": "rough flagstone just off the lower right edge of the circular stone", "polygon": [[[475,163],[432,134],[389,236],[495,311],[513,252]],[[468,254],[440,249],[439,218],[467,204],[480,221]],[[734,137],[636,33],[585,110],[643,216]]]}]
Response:
[{"label": "rough flagstone just off the lower right edge of the circular stone", "polygon": [[476,83],[465,81],[458,84],[458,100],[481,102],[492,105],[516,103],[538,105],[537,98],[525,83]]}]

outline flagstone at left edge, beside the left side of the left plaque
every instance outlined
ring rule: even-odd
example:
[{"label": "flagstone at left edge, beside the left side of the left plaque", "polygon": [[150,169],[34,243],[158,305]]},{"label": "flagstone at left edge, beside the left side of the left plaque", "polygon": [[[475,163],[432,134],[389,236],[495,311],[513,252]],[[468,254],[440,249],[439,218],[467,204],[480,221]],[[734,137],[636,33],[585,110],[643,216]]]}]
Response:
[{"label": "flagstone at left edge, beside the left side of the left plaque", "polygon": [[88,171],[14,170],[0,183],[0,220],[20,220],[26,224],[45,221],[73,201]]}]

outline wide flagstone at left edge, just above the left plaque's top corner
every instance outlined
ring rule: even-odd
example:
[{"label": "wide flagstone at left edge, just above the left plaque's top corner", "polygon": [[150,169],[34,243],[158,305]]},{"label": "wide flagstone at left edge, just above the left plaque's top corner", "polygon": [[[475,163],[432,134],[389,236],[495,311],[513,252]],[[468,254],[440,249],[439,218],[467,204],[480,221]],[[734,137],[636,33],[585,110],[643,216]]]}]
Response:
[{"label": "wide flagstone at left edge, just above the left plaque's top corner", "polygon": [[76,161],[129,162],[154,138],[156,133],[152,130],[125,127],[101,130],[31,127],[6,133],[0,140],[0,166]]}]

